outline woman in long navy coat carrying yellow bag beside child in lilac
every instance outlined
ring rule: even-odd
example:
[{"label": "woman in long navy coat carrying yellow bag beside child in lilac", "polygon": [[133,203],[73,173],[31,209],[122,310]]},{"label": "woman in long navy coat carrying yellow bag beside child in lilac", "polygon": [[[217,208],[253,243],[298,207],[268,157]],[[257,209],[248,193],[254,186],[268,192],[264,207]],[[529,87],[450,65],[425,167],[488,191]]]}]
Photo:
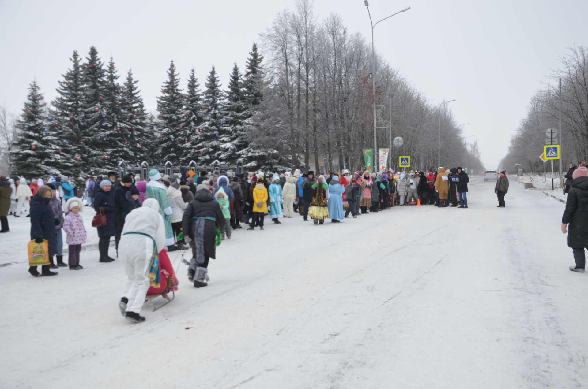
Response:
[{"label": "woman in long navy coat carrying yellow bag beside child in lilac", "polygon": [[[44,185],[37,189],[35,196],[31,199],[31,240],[37,243],[46,240],[49,243],[49,261],[53,263],[53,256],[57,254],[55,224],[59,223],[59,219],[55,219],[51,197],[51,188]],[[49,265],[41,266],[41,274],[36,268],[36,266],[29,266],[29,273],[34,277],[57,274],[56,271],[49,270]]]}]

